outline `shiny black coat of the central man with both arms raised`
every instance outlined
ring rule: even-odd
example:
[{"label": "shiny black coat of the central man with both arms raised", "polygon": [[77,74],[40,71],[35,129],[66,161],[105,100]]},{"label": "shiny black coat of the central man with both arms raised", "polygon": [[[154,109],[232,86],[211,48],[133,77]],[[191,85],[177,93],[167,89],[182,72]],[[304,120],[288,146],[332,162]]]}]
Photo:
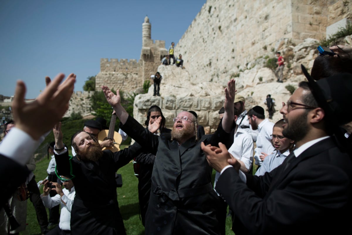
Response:
[{"label": "shiny black coat of the central man with both arms raised", "polygon": [[170,134],[160,137],[145,130],[132,117],[121,126],[143,149],[156,153],[152,188],[146,214],[146,234],[219,234],[216,208],[219,197],[211,182],[208,165],[200,144],[231,146],[230,133],[221,125],[213,135],[204,135],[178,146]]}]

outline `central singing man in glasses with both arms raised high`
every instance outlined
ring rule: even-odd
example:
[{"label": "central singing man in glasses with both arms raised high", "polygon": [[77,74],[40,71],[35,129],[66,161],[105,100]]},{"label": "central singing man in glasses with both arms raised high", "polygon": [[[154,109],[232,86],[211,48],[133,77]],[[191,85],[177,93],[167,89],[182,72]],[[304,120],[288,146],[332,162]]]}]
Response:
[{"label": "central singing man in glasses with both arms raised high", "polygon": [[[220,199],[213,190],[212,168],[201,150],[201,142],[231,146],[235,81],[225,89],[225,113],[213,135],[197,139],[197,119],[187,111],[174,118],[170,134],[153,135],[129,116],[120,103],[120,94],[102,87],[124,130],[143,149],[156,154],[152,186],[145,219],[145,234],[220,234],[216,210]],[[159,117],[152,125],[157,129]]]}]

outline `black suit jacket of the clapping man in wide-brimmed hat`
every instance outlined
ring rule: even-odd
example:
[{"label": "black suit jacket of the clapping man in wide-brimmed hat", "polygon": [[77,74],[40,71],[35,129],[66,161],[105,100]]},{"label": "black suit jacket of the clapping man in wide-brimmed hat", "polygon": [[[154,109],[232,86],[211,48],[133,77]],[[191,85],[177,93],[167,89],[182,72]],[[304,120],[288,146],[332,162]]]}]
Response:
[{"label": "black suit jacket of the clapping man in wide-brimmed hat", "polygon": [[349,234],[350,157],[329,137],[286,170],[285,162],[263,176],[246,175],[247,185],[232,167],[221,174],[215,189],[235,213],[236,235]]}]

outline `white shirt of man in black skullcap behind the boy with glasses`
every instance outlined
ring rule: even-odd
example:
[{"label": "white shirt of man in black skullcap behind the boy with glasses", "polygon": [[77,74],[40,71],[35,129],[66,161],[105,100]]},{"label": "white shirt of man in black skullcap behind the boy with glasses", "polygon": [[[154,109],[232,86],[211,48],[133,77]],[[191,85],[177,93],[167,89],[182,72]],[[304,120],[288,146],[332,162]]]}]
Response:
[{"label": "white shirt of man in black skullcap behind the boy with glasses", "polygon": [[269,119],[264,119],[258,125],[258,137],[257,137],[257,147],[254,149],[254,159],[256,160],[256,165],[261,166],[263,161],[260,160],[259,156],[263,155],[262,153],[266,153],[268,155],[272,154],[275,150],[274,146],[271,144],[271,136],[272,128],[274,127],[274,123],[269,122]]}]

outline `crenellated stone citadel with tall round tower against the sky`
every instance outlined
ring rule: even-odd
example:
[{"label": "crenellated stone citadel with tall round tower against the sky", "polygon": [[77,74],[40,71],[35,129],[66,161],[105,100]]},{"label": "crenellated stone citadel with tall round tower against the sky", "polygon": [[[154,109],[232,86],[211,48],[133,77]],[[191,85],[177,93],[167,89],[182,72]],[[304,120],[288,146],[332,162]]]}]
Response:
[{"label": "crenellated stone citadel with tall round tower against the sky", "polygon": [[144,18],[142,24],[142,50],[140,60],[130,59],[100,59],[100,72],[95,77],[95,90],[100,91],[102,85],[114,90],[134,92],[143,87],[143,82],[157,72],[163,56],[167,55],[165,41],[151,39],[151,24],[149,18]]}]

